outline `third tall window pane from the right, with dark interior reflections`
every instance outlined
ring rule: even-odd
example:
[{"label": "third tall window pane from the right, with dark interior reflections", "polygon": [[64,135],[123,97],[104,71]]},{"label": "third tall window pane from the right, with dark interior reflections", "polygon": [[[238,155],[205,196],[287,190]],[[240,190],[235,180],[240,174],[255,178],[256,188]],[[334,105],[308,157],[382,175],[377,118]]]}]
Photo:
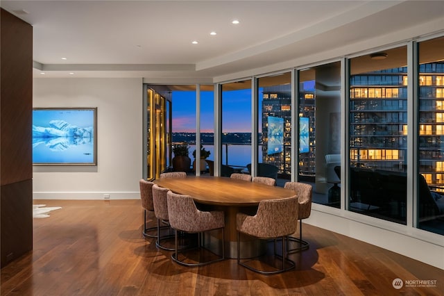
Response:
[{"label": "third tall window pane from the right, with dark interior reflections", "polygon": [[298,104],[298,179],[314,184],[314,202],[339,208],[341,62],[299,71]]}]

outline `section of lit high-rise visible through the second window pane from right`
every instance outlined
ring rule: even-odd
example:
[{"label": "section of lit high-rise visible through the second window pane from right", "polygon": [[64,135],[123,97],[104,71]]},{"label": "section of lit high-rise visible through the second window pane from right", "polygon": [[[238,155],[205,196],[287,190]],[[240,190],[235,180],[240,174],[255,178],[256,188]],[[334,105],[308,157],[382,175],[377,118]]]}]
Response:
[{"label": "section of lit high-rise visible through the second window pane from right", "polygon": [[350,77],[350,165],[405,171],[407,67]]}]

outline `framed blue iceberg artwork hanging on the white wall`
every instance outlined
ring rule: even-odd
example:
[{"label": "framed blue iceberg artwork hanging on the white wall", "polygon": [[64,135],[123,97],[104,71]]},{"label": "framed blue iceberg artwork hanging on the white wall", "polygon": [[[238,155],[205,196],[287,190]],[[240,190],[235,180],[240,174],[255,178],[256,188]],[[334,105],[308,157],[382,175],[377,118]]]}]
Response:
[{"label": "framed blue iceberg artwork hanging on the white wall", "polygon": [[96,165],[97,108],[34,108],[34,165]]}]

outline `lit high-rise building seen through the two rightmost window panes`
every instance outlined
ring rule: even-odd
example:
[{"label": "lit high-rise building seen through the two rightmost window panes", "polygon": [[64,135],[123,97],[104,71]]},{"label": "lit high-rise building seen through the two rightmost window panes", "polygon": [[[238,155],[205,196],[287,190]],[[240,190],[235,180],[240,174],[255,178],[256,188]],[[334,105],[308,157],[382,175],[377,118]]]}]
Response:
[{"label": "lit high-rise building seen through the two rightmost window panes", "polygon": [[[419,67],[419,171],[444,183],[444,63]],[[350,78],[350,165],[406,172],[407,67]]]}]

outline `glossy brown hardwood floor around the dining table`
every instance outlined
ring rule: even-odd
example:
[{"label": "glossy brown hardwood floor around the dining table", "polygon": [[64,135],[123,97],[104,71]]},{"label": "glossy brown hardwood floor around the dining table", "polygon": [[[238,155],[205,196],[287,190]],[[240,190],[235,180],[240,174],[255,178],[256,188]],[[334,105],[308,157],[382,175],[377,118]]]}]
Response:
[{"label": "glossy brown hardwood floor around the dining table", "polygon": [[[264,276],[228,259],[171,262],[142,238],[138,200],[35,201],[62,206],[34,219],[33,252],[1,269],[1,295],[443,295],[444,270],[305,224],[296,270]],[[151,215],[150,215],[151,217]],[[426,250],[418,250],[426,252]],[[436,286],[393,288],[393,279]]]}]

